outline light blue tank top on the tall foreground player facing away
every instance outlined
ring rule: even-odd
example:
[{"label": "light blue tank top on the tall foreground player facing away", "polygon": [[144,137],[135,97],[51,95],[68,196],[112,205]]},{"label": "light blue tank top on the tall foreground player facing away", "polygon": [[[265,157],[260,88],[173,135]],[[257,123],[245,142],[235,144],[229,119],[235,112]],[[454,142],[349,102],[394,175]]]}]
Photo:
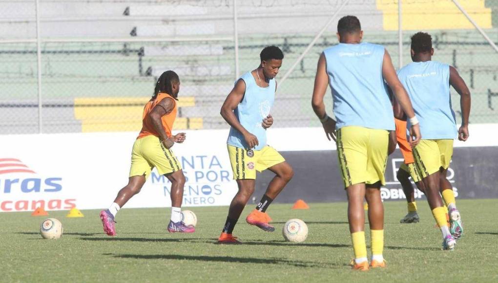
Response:
[{"label": "light blue tank top on the tall foreground player facing away", "polygon": [[392,104],[382,78],[384,47],[339,43],[323,54],[334,98],[336,128],[394,130]]}]

